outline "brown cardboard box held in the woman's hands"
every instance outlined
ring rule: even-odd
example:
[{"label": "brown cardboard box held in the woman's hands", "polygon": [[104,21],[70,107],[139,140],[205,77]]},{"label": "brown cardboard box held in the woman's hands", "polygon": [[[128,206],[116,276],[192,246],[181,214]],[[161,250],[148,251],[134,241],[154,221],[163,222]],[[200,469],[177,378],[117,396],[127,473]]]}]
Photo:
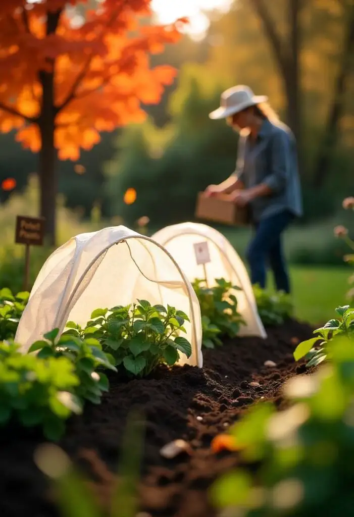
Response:
[{"label": "brown cardboard box held in the woman's hands", "polygon": [[195,217],[229,225],[245,226],[250,222],[248,207],[241,208],[229,200],[227,194],[207,197],[198,193]]}]

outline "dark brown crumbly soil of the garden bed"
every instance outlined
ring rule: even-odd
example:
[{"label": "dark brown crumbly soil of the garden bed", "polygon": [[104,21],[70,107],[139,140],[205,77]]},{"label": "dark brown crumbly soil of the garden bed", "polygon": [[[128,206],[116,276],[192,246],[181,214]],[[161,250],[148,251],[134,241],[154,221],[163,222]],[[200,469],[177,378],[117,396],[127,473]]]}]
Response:
[{"label": "dark brown crumbly soil of the garden bed", "polygon": [[[68,422],[60,446],[107,502],[126,418],[138,406],[146,418],[141,511],[153,517],[213,517],[207,489],[237,463],[237,454],[213,453],[212,438],[225,432],[256,400],[282,405],[284,381],[305,371],[294,362],[294,348],[311,334],[308,325],[289,321],[268,329],[265,341],[238,338],[206,351],[203,370],[183,367],[171,373],[162,368],[150,379],[127,383],[111,379],[102,404],[86,406],[82,417]],[[265,367],[267,360],[276,367]],[[251,382],[260,386],[250,386]],[[164,459],[161,447],[177,438],[186,440],[191,452]],[[49,485],[33,462],[33,453],[43,442],[38,433],[7,428],[0,431],[0,439],[0,516],[57,515]]]}]

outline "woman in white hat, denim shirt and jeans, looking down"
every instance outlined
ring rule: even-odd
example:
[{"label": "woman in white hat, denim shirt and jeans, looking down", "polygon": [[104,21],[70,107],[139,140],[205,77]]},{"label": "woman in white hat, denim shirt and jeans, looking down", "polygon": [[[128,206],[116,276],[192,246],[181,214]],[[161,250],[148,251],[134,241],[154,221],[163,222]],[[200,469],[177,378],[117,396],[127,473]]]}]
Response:
[{"label": "woman in white hat, denim shirt and jeans, looking down", "polygon": [[209,185],[206,195],[229,194],[240,207],[249,207],[254,236],[247,251],[251,281],[266,286],[269,265],[276,288],[290,292],[282,235],[302,215],[296,141],[267,104],[247,86],[229,88],[220,108],[209,114],[225,118],[240,133],[236,171],[220,185]]}]

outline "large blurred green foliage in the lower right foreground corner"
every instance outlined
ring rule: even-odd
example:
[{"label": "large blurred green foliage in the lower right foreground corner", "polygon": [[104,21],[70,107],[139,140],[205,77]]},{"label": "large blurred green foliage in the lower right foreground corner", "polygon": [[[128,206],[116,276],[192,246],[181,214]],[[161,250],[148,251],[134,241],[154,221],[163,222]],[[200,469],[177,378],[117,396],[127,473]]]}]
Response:
[{"label": "large blurred green foliage in the lower right foreground corner", "polygon": [[230,515],[352,514],[354,347],[336,336],[329,351],[331,363],[285,386],[289,409],[259,403],[230,430],[243,468],[212,490]]}]

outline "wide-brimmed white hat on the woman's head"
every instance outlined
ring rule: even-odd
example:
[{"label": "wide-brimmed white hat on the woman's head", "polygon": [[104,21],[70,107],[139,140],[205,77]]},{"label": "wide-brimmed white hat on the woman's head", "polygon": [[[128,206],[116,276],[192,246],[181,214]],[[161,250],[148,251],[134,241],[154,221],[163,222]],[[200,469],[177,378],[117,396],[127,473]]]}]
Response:
[{"label": "wide-brimmed white hat on the woman's head", "polygon": [[212,119],[226,118],[267,101],[267,96],[254,95],[248,86],[234,86],[221,94],[220,107],[209,113],[209,117]]}]

